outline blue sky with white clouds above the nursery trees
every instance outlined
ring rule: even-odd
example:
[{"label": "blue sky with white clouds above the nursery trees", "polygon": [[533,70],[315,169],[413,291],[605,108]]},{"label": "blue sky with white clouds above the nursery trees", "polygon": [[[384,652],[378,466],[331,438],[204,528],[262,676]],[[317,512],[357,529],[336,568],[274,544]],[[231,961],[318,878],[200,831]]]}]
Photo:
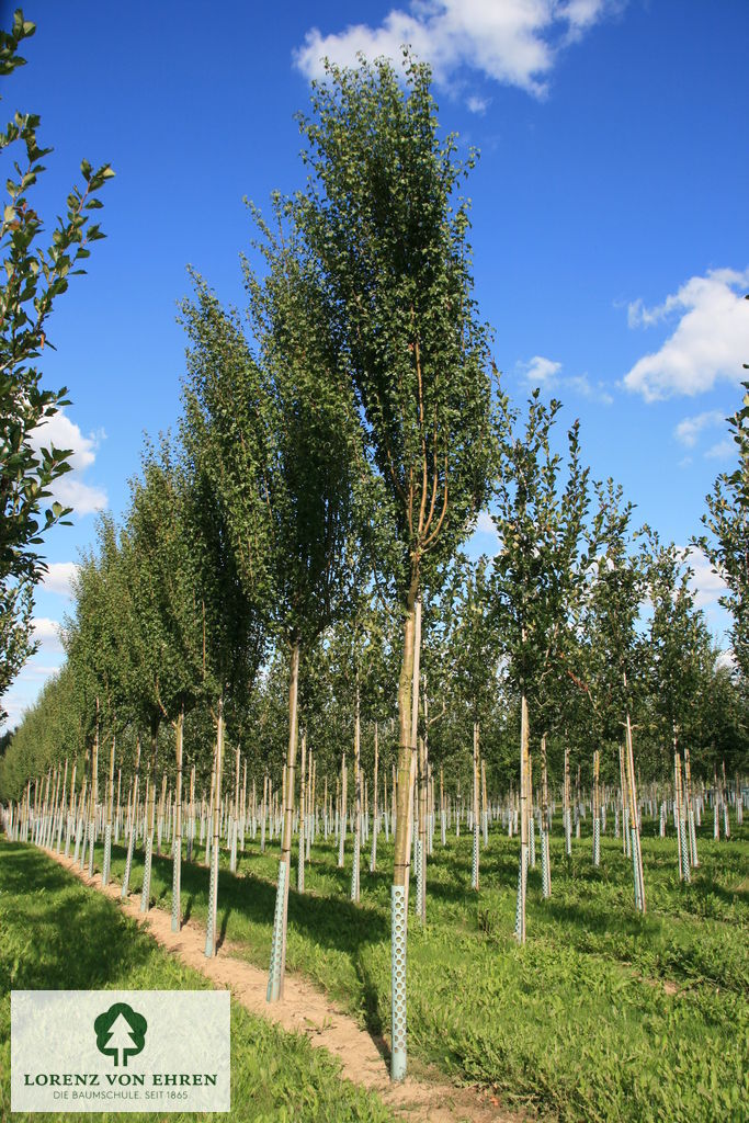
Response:
[{"label": "blue sky with white clouds above the nursery trees", "polygon": [[[4,701],[11,724],[61,661],[55,621],[93,511],[121,512],[143,432],[177,417],[185,266],[243,303],[243,197],[263,206],[302,182],[293,115],[322,53],[408,39],[432,62],[442,126],[482,154],[476,296],[506,389],[559,396],[593,475],[620,481],[664,538],[700,530],[749,362],[746,0],[38,0],[25,15],[28,66],[2,93],[7,115],[42,115],[55,148],[37,209],[52,222],[84,156],[117,179],[108,238],[51,327],[45,381],[73,400],[56,436],[76,449],[79,514],[48,539],[43,645]],[[719,582],[695,564],[720,637]]]}]

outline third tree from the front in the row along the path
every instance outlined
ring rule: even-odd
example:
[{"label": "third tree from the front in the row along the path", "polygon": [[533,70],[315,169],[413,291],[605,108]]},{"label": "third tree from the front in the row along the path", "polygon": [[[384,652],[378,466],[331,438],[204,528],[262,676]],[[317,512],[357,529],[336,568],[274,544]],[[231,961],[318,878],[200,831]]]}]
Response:
[{"label": "third tree from the front in the row along the path", "polygon": [[265,395],[237,319],[195,276],[181,437],[185,531],[202,621],[203,696],[213,722],[205,955],[216,952],[225,706],[247,697],[267,645],[272,583]]}]

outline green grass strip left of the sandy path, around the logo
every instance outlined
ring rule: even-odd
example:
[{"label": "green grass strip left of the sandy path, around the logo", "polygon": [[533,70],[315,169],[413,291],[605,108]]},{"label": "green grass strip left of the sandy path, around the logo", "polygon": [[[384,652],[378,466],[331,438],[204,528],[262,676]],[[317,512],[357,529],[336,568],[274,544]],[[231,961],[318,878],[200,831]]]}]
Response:
[{"label": "green grass strip left of the sandy path, around the logo", "polygon": [[[11,989],[205,989],[207,979],[164,953],[111,901],[30,846],[0,839],[0,1119],[10,1114]],[[329,1053],[231,1004],[232,1123],[386,1123],[392,1114],[341,1080]],[[153,1123],[146,1113],[124,1115]],[[174,1113],[167,1119],[198,1120]],[[94,1121],[107,1113],[45,1119]]]}]

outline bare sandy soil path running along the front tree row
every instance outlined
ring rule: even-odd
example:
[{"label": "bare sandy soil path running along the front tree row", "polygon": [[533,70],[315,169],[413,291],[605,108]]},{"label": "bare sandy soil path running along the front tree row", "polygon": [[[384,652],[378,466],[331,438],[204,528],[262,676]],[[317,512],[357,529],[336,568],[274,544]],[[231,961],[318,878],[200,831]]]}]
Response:
[{"label": "bare sandy soil path running along the front tree row", "polygon": [[283,1030],[303,1033],[313,1047],[327,1049],[340,1061],[346,1079],[376,1093],[404,1120],[412,1123],[521,1123],[527,1119],[503,1107],[479,1088],[447,1083],[437,1071],[424,1069],[424,1078],[409,1076],[402,1084],[392,1084],[384,1041],[363,1030],[305,979],[286,971],[284,996],[281,1002],[271,1004],[265,999],[267,973],[232,956],[232,944],[223,942],[216,957],[207,959],[205,930],[195,921],[188,921],[180,932],[173,932],[171,913],[152,907],[144,914],[139,895],[130,894],[121,901],[117,883],[102,886],[99,874],[90,878],[73,866],[72,858],[46,852],[85,885],[119,902],[127,915],[147,928],[163,948],[200,971],[216,987],[230,989],[236,1001],[250,1013],[275,1022]]}]

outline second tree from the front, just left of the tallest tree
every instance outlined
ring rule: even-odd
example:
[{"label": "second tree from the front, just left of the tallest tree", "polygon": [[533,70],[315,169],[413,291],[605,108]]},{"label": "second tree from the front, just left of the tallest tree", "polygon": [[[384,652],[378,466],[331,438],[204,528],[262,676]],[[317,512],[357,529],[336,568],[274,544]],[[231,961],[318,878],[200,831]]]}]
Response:
[{"label": "second tree from the front, just left of the tallest tree", "polygon": [[256,211],[265,273],[245,262],[250,316],[265,380],[266,477],[274,629],[291,652],[286,803],[267,997],[283,995],[298,742],[300,656],[350,612],[360,582],[357,504],[368,495],[355,400],[341,363],[340,335],[319,264],[291,208],[274,199],[276,230]]}]

